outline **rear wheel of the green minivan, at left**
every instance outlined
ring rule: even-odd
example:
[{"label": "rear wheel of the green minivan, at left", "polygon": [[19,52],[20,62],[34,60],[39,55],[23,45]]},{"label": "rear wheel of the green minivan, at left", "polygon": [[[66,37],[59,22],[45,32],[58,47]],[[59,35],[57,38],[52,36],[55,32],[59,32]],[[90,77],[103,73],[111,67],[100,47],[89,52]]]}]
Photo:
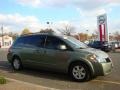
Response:
[{"label": "rear wheel of the green minivan, at left", "polygon": [[14,70],[21,70],[22,69],[22,63],[21,60],[18,57],[14,57],[12,60],[12,67]]}]

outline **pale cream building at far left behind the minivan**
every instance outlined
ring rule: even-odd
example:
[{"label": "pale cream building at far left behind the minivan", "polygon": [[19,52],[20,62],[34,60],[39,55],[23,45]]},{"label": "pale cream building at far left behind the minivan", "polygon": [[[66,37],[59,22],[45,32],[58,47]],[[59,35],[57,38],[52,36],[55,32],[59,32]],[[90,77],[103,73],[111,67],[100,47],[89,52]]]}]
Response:
[{"label": "pale cream building at far left behind the minivan", "polygon": [[13,43],[12,37],[8,35],[0,36],[0,48],[9,48]]}]

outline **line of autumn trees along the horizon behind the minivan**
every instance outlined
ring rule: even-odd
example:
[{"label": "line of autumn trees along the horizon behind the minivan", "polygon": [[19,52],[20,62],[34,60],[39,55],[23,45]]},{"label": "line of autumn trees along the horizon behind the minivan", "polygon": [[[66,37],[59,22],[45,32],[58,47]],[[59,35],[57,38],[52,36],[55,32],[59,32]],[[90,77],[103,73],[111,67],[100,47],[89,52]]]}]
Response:
[{"label": "line of autumn trees along the horizon behind the minivan", "polygon": [[[82,42],[87,41],[87,40],[95,40],[98,38],[97,30],[91,35],[88,35],[87,33],[77,33],[77,34],[72,35],[72,33],[75,32],[75,28],[72,26],[64,26],[62,29],[57,29],[57,30],[63,35],[73,36]],[[54,33],[54,30],[46,28],[46,29],[41,29],[39,32],[40,33]],[[22,30],[21,34],[13,33],[13,32],[4,33],[4,35],[5,34],[11,36],[13,40],[15,40],[20,35],[32,34],[32,32],[28,28],[25,28]],[[120,32],[116,31],[113,34],[110,33],[109,39],[111,41],[114,41],[114,40],[120,41]]]}]

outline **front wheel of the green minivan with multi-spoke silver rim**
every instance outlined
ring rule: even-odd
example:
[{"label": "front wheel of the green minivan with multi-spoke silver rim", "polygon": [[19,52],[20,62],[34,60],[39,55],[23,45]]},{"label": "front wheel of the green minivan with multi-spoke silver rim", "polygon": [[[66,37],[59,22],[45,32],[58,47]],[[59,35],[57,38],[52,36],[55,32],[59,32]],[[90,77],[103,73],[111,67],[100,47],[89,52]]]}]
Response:
[{"label": "front wheel of the green minivan with multi-spoke silver rim", "polygon": [[69,74],[71,78],[78,82],[90,80],[90,71],[86,64],[74,63],[70,66]]}]

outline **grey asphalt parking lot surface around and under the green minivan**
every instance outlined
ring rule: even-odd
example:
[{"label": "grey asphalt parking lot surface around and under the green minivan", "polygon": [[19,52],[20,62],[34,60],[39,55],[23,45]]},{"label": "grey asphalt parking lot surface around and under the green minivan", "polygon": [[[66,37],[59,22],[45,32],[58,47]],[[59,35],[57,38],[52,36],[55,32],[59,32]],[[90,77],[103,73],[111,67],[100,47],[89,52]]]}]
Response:
[{"label": "grey asphalt parking lot surface around and under the green minivan", "polygon": [[74,82],[62,73],[24,69],[13,71],[7,61],[7,50],[0,49],[0,75],[32,84],[62,90],[119,90],[120,89],[120,52],[109,53],[114,68],[110,75],[96,77],[88,82]]}]

